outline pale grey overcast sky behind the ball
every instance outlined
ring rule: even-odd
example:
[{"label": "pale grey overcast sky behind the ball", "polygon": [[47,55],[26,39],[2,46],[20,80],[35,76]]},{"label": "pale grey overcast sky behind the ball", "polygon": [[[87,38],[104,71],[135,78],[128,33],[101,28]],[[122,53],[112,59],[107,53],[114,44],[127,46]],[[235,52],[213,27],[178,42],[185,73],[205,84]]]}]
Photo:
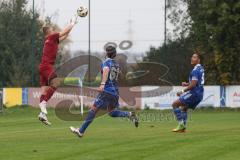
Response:
[{"label": "pale grey overcast sky behind the ball", "polygon": [[[53,21],[60,27],[66,26],[79,6],[88,7],[88,0],[35,0],[35,3],[43,17],[55,15]],[[164,0],[91,0],[91,4],[93,51],[102,51],[107,42],[132,40],[131,51],[140,54],[151,45],[163,43]],[[88,50],[88,18],[80,19],[71,40],[72,51]]]}]

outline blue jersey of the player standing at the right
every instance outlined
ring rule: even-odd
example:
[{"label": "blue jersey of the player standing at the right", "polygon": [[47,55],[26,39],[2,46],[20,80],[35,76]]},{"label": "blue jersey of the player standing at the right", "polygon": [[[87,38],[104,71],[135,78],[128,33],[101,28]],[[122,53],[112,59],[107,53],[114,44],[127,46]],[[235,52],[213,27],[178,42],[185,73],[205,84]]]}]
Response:
[{"label": "blue jersey of the player standing at the right", "polygon": [[201,64],[196,65],[191,71],[189,83],[191,83],[192,80],[197,80],[197,85],[190,90],[190,93],[202,97],[204,92],[204,68]]}]

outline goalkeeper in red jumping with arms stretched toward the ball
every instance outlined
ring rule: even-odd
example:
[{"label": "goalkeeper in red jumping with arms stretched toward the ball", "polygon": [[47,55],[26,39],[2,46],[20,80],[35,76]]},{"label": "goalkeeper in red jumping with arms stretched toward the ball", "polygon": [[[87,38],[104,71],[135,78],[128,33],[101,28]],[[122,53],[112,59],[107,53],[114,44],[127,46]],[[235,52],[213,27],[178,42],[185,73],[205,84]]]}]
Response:
[{"label": "goalkeeper in red jumping with arms stretched toward the ball", "polygon": [[44,26],[43,34],[45,42],[43,46],[42,60],[39,65],[41,97],[39,107],[41,112],[38,116],[39,120],[46,125],[51,125],[47,119],[47,102],[52,97],[60,80],[55,73],[54,64],[57,57],[58,46],[65,40],[73,27],[77,24],[77,17],[71,20],[71,23],[61,32],[55,32],[52,27]]}]

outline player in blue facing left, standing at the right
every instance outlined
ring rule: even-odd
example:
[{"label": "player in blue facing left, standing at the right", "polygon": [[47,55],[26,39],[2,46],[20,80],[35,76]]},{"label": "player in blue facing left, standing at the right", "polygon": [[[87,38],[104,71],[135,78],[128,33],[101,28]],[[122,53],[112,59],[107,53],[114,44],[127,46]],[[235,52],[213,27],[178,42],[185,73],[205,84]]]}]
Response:
[{"label": "player in blue facing left, standing at the right", "polygon": [[194,53],[191,58],[193,70],[189,76],[189,82],[183,82],[186,88],[178,92],[179,99],[173,102],[172,107],[178,120],[177,128],[173,132],[184,132],[187,124],[187,110],[195,109],[203,99],[204,93],[204,68],[200,64],[201,58],[198,53]]}]

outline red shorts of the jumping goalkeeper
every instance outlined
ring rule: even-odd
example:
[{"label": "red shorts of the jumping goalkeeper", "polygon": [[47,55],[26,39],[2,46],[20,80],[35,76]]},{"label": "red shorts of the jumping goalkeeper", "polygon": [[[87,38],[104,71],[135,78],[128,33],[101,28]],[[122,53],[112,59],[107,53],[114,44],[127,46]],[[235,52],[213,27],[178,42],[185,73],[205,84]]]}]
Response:
[{"label": "red shorts of the jumping goalkeeper", "polygon": [[55,69],[51,65],[40,65],[39,73],[41,86],[49,86],[51,80],[57,77]]}]

